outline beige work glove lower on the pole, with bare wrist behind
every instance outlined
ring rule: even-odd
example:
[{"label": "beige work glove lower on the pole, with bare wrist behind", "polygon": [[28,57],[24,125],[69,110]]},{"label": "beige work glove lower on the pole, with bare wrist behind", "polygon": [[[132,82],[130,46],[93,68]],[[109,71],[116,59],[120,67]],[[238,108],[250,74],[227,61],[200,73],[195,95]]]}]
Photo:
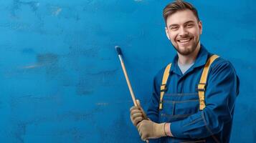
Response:
[{"label": "beige work glove lower on the pole, with bare wrist behind", "polygon": [[151,120],[143,120],[138,124],[138,132],[141,136],[141,139],[145,141],[146,139],[158,139],[160,137],[166,137],[165,132],[166,123],[155,123]]}]

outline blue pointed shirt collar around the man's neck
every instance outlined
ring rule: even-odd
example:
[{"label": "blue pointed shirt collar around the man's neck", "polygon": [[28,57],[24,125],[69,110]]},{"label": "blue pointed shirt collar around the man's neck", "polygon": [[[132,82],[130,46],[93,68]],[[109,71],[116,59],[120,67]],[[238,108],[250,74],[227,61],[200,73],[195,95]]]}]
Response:
[{"label": "blue pointed shirt collar around the man's neck", "polygon": [[[204,66],[207,62],[209,54],[210,53],[207,51],[207,49],[205,49],[205,47],[201,44],[200,49],[199,49],[199,53],[196,56],[196,61],[194,61],[194,65],[191,66],[189,68],[189,70],[186,71],[186,73],[188,73],[189,71],[192,71],[196,67]],[[181,70],[179,69],[179,66],[178,66],[178,54],[176,54],[176,56],[174,56],[174,59],[172,61],[170,73],[171,72],[174,72],[174,73],[179,74],[179,75],[183,75],[181,73]]]}]

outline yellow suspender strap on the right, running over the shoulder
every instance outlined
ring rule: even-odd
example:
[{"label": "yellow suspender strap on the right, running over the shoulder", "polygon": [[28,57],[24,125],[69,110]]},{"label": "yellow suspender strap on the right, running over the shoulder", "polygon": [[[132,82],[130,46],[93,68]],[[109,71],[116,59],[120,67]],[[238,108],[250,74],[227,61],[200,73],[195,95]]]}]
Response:
[{"label": "yellow suspender strap on the right, running over the shoulder", "polygon": [[200,79],[200,82],[198,84],[198,94],[199,94],[199,109],[203,110],[205,108],[205,102],[204,102],[204,92],[205,92],[205,85],[207,84],[207,75],[209,71],[209,67],[211,66],[212,62],[217,59],[219,56],[216,54],[212,55],[208,61],[207,64],[204,65],[204,70]]}]

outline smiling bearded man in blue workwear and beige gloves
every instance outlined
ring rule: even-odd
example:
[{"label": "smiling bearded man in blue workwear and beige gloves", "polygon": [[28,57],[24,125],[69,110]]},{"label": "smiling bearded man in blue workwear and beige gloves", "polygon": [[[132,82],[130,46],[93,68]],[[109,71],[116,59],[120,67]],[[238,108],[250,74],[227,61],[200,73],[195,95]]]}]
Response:
[{"label": "smiling bearded man in blue workwear and beige gloves", "polygon": [[166,36],[177,51],[158,71],[145,113],[131,107],[141,139],[158,142],[229,142],[239,79],[232,64],[200,43],[194,6],[177,0],[163,9]]}]

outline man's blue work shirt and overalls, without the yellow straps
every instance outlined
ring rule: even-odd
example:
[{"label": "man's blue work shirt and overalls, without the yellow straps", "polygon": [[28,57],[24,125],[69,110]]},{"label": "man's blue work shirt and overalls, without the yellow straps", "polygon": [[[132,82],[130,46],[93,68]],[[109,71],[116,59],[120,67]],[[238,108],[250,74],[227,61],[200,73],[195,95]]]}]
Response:
[{"label": "man's blue work shirt and overalls, without the yellow straps", "polygon": [[198,85],[210,56],[212,54],[201,45],[194,65],[184,74],[177,64],[178,57],[174,58],[162,109],[159,109],[159,102],[165,68],[156,74],[147,115],[153,122],[171,122],[174,135],[157,139],[157,142],[229,142],[239,79],[229,61],[217,58],[209,67],[204,91],[205,107],[200,109]]}]

